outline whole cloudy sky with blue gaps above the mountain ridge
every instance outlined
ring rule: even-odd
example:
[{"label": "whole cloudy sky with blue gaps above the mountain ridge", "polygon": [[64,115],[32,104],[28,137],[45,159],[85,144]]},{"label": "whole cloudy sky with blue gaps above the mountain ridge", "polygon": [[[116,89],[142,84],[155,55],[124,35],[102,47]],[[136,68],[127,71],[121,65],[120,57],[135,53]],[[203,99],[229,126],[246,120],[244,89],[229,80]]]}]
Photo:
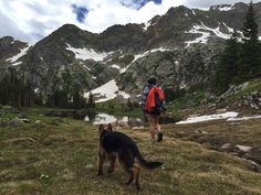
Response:
[{"label": "whole cloudy sky with blue gaps above the mountain ridge", "polygon": [[[261,0],[253,0],[260,2]],[[100,33],[114,24],[145,23],[169,8],[209,8],[237,0],[0,0],[0,37],[31,44],[65,23]],[[241,0],[249,3],[250,0]]]}]

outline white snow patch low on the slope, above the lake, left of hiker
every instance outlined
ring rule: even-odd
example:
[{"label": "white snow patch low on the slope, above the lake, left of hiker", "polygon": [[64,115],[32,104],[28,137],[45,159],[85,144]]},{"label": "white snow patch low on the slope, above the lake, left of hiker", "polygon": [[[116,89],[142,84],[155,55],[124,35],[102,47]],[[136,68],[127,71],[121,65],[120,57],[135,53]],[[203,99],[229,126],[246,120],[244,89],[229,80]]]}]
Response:
[{"label": "white snow patch low on the slope, above the lake, left of hiker", "polygon": [[118,86],[116,85],[116,82],[114,79],[109,80],[108,83],[104,84],[103,86],[96,89],[85,93],[84,97],[87,98],[90,96],[90,93],[94,95],[95,99],[98,98],[97,100],[95,100],[95,102],[104,102],[114,99],[117,96],[122,96],[125,99],[130,97],[128,94],[118,90]]}]

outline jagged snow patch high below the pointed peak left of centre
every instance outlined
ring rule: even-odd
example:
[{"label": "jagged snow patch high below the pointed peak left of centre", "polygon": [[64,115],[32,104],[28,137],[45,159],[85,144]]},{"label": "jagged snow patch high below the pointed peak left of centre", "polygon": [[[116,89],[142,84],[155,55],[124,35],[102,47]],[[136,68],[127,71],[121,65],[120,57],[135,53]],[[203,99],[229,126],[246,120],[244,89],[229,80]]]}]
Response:
[{"label": "jagged snow patch high below the pointed peak left of centre", "polygon": [[67,44],[66,50],[72,51],[77,59],[94,59],[94,61],[103,61],[107,57],[107,53],[97,53],[93,48],[74,48],[70,44]]}]

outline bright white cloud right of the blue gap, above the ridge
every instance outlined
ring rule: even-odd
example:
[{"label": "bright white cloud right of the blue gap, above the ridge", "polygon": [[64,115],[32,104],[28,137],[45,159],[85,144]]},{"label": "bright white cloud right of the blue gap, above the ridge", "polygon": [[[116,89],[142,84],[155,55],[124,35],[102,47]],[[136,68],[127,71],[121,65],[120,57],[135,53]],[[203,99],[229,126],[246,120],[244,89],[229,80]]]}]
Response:
[{"label": "bright white cloud right of the blue gap, above the ridge", "polygon": [[[130,2],[130,1],[129,1]],[[88,31],[101,32],[113,24],[144,23],[156,14],[165,14],[169,8],[182,4],[184,0],[163,0],[161,3],[147,2],[140,9],[133,6],[114,6],[109,3],[101,4],[88,12],[85,19],[85,26]],[[135,9],[134,9],[135,8]]]}]

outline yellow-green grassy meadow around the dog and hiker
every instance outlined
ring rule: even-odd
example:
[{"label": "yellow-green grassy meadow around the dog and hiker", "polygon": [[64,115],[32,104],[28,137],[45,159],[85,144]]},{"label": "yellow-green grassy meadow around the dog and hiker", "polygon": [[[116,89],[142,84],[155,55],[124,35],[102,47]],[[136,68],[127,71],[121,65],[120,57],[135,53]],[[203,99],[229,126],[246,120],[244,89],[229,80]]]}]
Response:
[{"label": "yellow-green grassy meadow around the dog and hiker", "polygon": [[[228,133],[234,133],[234,140],[239,140],[234,143],[254,142],[260,148],[258,122],[234,127],[242,129],[239,132],[226,131],[230,129],[229,123],[163,126],[165,140],[160,143],[150,143],[147,128],[119,128],[137,142],[145,159],[165,163],[163,169],[142,169],[142,191],[137,192],[134,184],[124,184],[127,175],[118,165],[115,173],[96,176],[96,126],[71,118],[63,119],[66,123],[52,124],[54,118],[31,113],[32,123],[0,128],[1,195],[261,194],[261,174],[251,171],[249,161],[210,150],[208,144],[174,137],[181,130],[190,134],[194,129],[203,129],[223,141]],[[42,120],[43,124],[34,124],[35,120]],[[252,134],[246,133],[243,126]],[[218,131],[219,127],[222,130]]]}]

